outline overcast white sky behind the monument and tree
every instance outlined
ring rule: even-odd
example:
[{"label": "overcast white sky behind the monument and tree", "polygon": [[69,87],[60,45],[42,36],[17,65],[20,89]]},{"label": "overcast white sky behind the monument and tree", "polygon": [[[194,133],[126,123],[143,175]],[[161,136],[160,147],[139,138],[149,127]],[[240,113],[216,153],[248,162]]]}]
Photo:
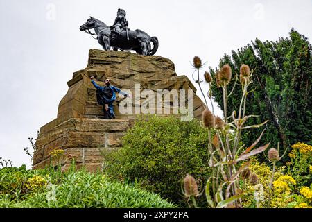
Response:
[{"label": "overcast white sky behind the monument and tree", "polygon": [[0,0],[0,157],[31,167],[27,138],[56,118],[72,73],[87,66],[89,49],[101,49],[79,26],[90,15],[112,25],[118,8],[190,79],[193,56],[216,67],[256,37],[277,40],[291,27],[312,37],[311,0]]}]

